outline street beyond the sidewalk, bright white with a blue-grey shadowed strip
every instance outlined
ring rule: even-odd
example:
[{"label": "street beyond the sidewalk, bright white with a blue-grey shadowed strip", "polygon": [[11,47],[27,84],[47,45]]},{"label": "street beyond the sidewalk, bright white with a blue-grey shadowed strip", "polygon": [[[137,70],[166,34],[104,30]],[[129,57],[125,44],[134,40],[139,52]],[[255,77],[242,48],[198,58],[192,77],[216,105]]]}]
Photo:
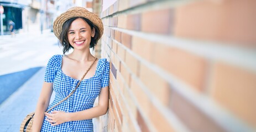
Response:
[{"label": "street beyond the sidewalk, bright white with a blue-grey shadowed strip", "polygon": [[0,104],[46,64],[61,54],[53,32],[44,31],[0,37]]}]

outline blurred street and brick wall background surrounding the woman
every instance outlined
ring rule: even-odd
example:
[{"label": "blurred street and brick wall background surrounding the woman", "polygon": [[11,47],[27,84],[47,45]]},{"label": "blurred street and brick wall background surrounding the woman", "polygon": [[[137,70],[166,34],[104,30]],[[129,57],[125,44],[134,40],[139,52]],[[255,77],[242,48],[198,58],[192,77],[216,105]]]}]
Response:
[{"label": "blurred street and brick wall background surrounding the woman", "polygon": [[256,131],[255,0],[0,4],[0,131],[34,111],[46,64],[62,54],[53,21],[74,6],[104,25],[91,52],[111,67],[109,108],[95,131]]}]

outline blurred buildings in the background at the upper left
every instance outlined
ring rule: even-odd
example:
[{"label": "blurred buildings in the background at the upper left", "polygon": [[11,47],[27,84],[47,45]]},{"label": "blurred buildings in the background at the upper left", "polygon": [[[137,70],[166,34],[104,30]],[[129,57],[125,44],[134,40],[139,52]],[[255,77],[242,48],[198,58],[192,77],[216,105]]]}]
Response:
[{"label": "blurred buildings in the background at the upper left", "polygon": [[53,21],[70,7],[87,7],[92,11],[92,1],[86,0],[0,0],[4,7],[3,29],[9,34],[8,21],[13,20],[17,32],[53,29]]}]

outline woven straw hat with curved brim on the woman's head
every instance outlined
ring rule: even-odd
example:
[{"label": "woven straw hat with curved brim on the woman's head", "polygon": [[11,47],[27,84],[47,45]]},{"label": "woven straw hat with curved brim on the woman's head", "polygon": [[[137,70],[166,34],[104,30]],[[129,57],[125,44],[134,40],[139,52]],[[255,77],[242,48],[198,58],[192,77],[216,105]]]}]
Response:
[{"label": "woven straw hat with curved brim on the woman's head", "polygon": [[[88,20],[92,21],[94,25],[98,27],[100,30],[100,35],[98,39],[101,38],[103,34],[103,24],[100,18],[92,12],[89,12],[87,9],[83,7],[72,7],[68,9],[66,12],[60,14],[59,17],[57,17],[53,23],[53,32],[56,37],[60,39],[60,33],[62,30],[62,25],[65,23],[65,21],[69,20],[70,18],[75,17],[81,17],[81,18],[87,18]],[[98,40],[97,39],[97,40]]]}]

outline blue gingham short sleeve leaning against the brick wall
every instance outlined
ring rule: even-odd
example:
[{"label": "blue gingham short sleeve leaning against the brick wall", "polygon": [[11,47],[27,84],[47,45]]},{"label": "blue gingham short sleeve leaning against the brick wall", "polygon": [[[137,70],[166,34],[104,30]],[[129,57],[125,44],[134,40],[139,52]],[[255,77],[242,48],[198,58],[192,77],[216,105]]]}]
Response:
[{"label": "blue gingham short sleeve leaning against the brick wall", "polygon": [[109,85],[109,62],[107,59],[102,59],[102,79],[101,87],[106,87]]}]

